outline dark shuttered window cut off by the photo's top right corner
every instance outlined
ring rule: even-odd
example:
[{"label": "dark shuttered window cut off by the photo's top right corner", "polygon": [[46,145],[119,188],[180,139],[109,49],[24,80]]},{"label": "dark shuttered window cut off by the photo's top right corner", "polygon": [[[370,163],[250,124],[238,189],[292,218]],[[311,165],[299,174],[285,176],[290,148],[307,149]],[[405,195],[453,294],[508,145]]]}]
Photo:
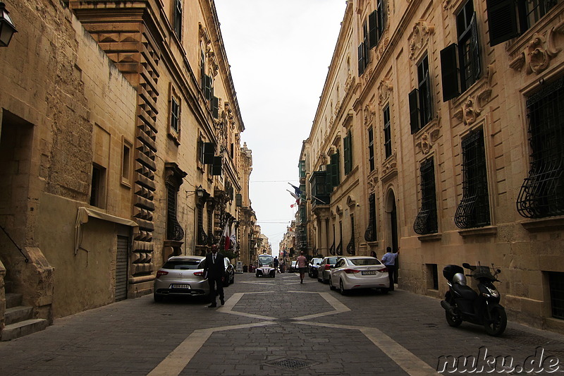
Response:
[{"label": "dark shuttered window cut off by the photo's top right corner", "polygon": [[495,46],[527,31],[560,0],[487,0],[489,44]]}]

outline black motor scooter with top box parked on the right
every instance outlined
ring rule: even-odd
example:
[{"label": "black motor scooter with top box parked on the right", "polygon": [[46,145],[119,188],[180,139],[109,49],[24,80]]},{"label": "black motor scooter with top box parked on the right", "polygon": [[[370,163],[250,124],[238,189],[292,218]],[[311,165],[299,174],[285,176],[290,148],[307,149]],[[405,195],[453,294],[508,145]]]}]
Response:
[{"label": "black motor scooter with top box parked on the right", "polygon": [[[505,308],[499,304],[500,295],[494,282],[499,282],[496,276],[501,273],[500,269],[494,268],[491,274],[489,267],[481,265],[462,264],[471,273],[466,274],[478,281],[478,291],[474,291],[466,285],[464,269],[458,265],[447,265],[443,269],[443,276],[449,286],[445,294],[445,300],[441,306],[446,311],[446,322],[451,327],[458,327],[462,321],[472,322],[476,325],[484,325],[486,333],[491,336],[499,336],[507,326],[507,315]],[[491,265],[494,267],[494,264]]]}]

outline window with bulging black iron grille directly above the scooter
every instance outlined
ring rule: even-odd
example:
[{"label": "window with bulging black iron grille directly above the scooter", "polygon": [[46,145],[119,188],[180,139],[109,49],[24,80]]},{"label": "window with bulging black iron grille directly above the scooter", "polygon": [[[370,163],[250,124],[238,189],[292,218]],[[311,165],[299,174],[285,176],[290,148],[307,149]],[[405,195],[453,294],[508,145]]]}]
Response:
[{"label": "window with bulging black iron grille directly above the scooter", "polygon": [[462,140],[462,200],[454,222],[460,229],[490,224],[488,178],[484,131],[474,131]]}]

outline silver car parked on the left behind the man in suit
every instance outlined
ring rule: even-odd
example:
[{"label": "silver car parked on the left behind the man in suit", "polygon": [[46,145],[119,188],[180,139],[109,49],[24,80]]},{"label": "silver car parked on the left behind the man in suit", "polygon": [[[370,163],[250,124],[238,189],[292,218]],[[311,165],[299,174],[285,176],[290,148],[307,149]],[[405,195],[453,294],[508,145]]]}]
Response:
[{"label": "silver car parked on the left behind the man in suit", "polygon": [[204,278],[204,256],[173,256],[157,271],[154,280],[154,301],[165,296],[206,296],[209,284]]}]

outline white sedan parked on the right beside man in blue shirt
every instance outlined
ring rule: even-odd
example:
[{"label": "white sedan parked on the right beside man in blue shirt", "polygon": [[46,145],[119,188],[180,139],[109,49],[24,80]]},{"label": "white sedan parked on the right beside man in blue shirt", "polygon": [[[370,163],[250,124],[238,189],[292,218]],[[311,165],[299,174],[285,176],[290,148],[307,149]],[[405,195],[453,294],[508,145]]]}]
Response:
[{"label": "white sedan parked on the right beside man in blue shirt", "polygon": [[390,289],[388,269],[375,257],[341,257],[329,276],[331,290],[336,286],[343,295],[353,289],[380,289],[387,293]]}]

